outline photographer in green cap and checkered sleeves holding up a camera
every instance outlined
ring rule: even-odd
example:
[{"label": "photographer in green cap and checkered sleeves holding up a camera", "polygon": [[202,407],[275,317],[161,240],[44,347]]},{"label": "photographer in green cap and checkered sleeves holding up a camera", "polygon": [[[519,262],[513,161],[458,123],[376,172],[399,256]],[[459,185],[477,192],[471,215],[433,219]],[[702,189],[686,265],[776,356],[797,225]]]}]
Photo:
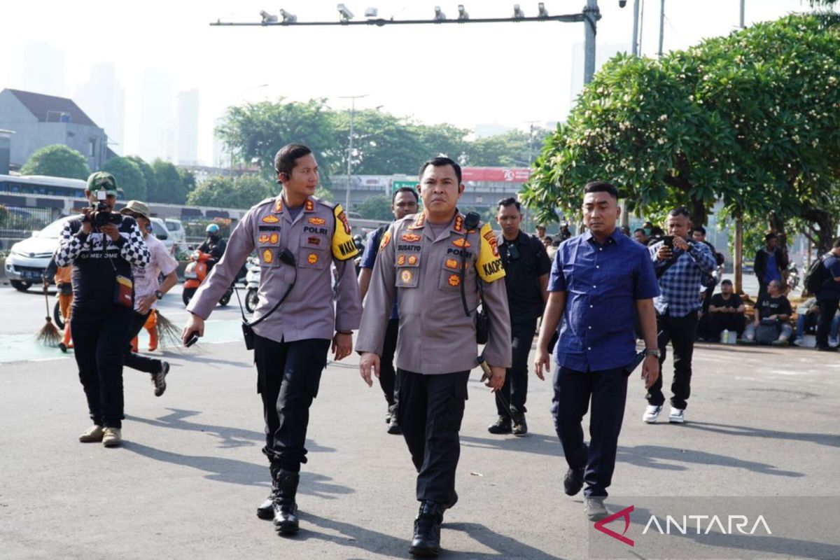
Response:
[{"label": "photographer in green cap and checkered sleeves holding up a camera", "polygon": [[113,175],[92,173],[85,196],[91,206],[65,222],[55,264],[73,265],[71,333],[93,421],[79,441],[113,447],[122,441],[123,349],[134,313],[132,267],[148,264],[150,254],[134,218],[113,212]]}]

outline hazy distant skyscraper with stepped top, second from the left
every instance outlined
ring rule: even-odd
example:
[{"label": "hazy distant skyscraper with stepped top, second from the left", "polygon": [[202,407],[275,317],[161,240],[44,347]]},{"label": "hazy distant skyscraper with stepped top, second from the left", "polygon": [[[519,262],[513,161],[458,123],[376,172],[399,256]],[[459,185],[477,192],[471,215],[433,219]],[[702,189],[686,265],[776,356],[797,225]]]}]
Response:
[{"label": "hazy distant skyscraper with stepped top, second from the left", "polygon": [[125,89],[117,81],[113,62],[91,69],[90,79],[76,90],[76,103],[108,134],[108,147],[125,154]]}]

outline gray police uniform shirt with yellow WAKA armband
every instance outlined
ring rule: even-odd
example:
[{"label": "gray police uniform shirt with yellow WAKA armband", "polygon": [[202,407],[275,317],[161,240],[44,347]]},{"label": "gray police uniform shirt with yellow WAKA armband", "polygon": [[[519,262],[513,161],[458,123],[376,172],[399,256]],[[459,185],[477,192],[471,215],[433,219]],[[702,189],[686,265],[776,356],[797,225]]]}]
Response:
[{"label": "gray police uniform shirt with yellow WAKA armband", "polygon": [[[295,266],[281,262],[284,249],[294,255]],[[307,197],[295,218],[282,196],[252,207],[230,234],[222,259],[186,309],[206,319],[255,250],[260,259],[260,288],[253,320],[280,301],[297,274],[286,301],[254,327],[261,337],[276,342],[331,339],[335,331],[359,327],[361,298],[353,265],[359,249],[341,207],[314,196]],[[330,264],[337,270],[334,308]]]}]

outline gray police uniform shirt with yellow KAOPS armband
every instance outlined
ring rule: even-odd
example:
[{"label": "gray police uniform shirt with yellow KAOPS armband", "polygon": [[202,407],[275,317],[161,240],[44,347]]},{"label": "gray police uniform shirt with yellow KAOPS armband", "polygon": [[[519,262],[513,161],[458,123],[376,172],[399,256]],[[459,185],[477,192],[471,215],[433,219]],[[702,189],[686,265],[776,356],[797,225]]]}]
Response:
[{"label": "gray police uniform shirt with yellow KAOPS armband", "polygon": [[[487,364],[510,367],[511,325],[496,233],[489,224],[467,233],[464,219],[455,212],[449,228],[438,238],[423,213],[391,224],[382,235],[370,278],[356,351],[382,355],[391,305],[398,293],[396,367],[419,374],[475,368],[475,312],[465,315],[460,288],[464,281],[472,311],[479,302],[477,282],[481,282],[490,319],[484,358]],[[466,258],[464,275],[459,274],[462,256]]]}]

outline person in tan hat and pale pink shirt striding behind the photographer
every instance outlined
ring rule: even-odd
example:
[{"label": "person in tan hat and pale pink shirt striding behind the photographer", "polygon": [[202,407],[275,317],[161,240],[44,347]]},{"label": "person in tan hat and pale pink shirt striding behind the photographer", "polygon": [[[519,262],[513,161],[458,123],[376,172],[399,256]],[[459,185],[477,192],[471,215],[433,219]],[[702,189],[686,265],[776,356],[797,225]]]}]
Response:
[{"label": "person in tan hat and pale pink shirt striding behind the photographer", "polygon": [[[149,264],[131,267],[134,273],[134,317],[131,320],[129,342],[125,347],[123,365],[150,374],[152,385],[155,388],[155,396],[160,396],[166,390],[166,374],[169,373],[169,362],[147,358],[132,352],[131,340],[143,328],[150,314],[155,312],[158,300],[163,299],[164,294],[178,283],[178,273],[176,272],[178,261],[172,258],[160,239],[150,234],[151,220],[149,219],[148,206],[141,201],[129,201],[119,213],[136,220],[150,254]],[[164,275],[164,279],[159,284],[158,279],[161,274]]]}]

